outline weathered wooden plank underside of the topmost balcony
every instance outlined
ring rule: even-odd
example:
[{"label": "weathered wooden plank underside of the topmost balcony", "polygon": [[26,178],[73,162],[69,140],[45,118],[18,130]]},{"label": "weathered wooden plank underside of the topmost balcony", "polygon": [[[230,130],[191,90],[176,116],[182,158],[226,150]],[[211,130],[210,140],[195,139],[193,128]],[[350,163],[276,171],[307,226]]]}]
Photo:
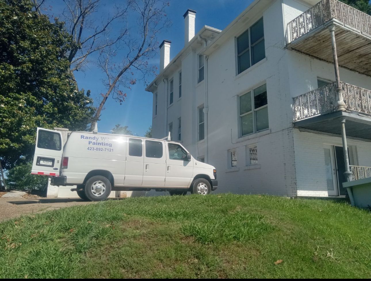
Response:
[{"label": "weathered wooden plank underside of the topmost balcony", "polygon": [[328,29],[331,24],[336,25],[339,66],[371,76],[371,37],[360,34],[358,30],[346,27],[335,19],[289,43],[287,48],[332,63],[331,33]]}]

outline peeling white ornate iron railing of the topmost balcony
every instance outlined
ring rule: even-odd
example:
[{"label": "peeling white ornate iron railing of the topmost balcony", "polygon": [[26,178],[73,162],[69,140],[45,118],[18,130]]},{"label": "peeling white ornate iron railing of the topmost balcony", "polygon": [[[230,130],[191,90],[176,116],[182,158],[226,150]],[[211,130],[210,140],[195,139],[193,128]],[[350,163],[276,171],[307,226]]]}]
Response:
[{"label": "peeling white ornate iron railing of the topmost balcony", "polygon": [[371,35],[371,16],[337,0],[322,0],[288,23],[287,43],[331,19],[337,19],[362,33]]}]

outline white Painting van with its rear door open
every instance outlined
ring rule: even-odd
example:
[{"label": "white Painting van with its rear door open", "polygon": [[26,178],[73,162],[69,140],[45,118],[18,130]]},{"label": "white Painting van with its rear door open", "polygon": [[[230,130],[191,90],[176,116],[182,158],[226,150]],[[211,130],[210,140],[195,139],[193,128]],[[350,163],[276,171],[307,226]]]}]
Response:
[{"label": "white Painting van with its rear door open", "polygon": [[105,200],[111,190],[151,190],[207,195],[218,186],[216,169],[174,141],[96,132],[37,128],[32,174],[55,186],[77,185],[82,199]]}]

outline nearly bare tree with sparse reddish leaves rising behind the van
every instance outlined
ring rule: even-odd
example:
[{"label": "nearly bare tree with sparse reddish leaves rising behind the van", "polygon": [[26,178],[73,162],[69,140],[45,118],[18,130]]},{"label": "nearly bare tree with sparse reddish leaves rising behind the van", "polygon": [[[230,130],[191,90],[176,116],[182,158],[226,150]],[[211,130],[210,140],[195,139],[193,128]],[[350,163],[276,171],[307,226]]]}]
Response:
[{"label": "nearly bare tree with sparse reddish leaves rising behind the van", "polygon": [[[34,9],[45,0],[34,1]],[[45,1],[47,3],[47,0]],[[101,24],[97,13],[104,10],[103,0],[63,0],[65,10],[60,19],[73,37],[66,56],[71,72],[83,70],[89,59],[96,58],[104,73],[106,92],[101,93],[98,108],[91,122],[92,131],[99,120],[108,97],[120,104],[126,93],[122,88],[131,89],[138,80],[155,74],[156,68],[148,63],[155,55],[158,41],[157,33],[170,25],[165,8],[165,0],[125,0],[112,7],[109,16],[102,15]],[[122,26],[117,29],[115,26]],[[119,54],[119,56],[118,56]],[[139,76],[136,77],[136,74]],[[136,78],[135,78],[136,77]]]}]

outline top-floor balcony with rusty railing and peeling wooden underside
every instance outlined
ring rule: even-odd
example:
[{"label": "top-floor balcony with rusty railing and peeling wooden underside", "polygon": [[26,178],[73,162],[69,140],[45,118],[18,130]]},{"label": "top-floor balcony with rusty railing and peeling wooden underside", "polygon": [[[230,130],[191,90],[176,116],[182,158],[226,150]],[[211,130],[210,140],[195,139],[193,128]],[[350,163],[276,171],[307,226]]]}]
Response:
[{"label": "top-floor balcony with rusty railing and peeling wooden underside", "polygon": [[329,26],[335,26],[339,66],[371,76],[371,16],[340,1],[322,0],[289,22],[286,46],[332,63]]}]

